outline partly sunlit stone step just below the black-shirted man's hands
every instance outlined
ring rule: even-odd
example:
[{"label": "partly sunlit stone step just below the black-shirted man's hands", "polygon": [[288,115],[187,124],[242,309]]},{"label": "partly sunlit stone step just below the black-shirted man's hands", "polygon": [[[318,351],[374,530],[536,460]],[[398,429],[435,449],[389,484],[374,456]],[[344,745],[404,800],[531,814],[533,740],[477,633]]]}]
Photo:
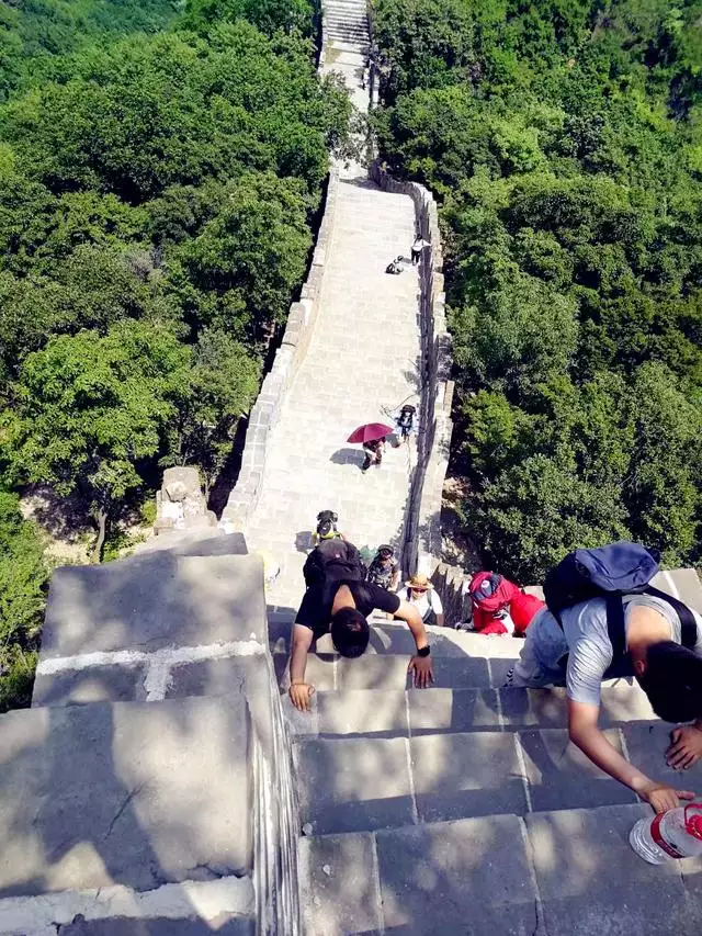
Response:
[{"label": "partly sunlit stone step just below the black-shirted man's hands", "polygon": [[[347,689],[317,691],[302,714],[283,704],[298,736],[409,737],[467,731],[565,729],[565,689]],[[657,722],[645,692],[621,683],[602,690],[600,725]],[[668,726],[667,731],[670,731]]]}]

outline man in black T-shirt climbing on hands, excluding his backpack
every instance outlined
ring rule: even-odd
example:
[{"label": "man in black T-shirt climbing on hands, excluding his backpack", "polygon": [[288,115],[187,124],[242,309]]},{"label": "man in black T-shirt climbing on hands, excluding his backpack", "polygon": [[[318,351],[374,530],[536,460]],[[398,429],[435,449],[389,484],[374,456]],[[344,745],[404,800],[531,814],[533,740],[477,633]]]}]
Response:
[{"label": "man in black T-shirt climbing on hands, excluding his backpack", "polygon": [[314,686],[305,683],[307,652],[313,641],[330,632],[333,645],[342,656],[361,656],[370,638],[366,618],[376,608],[406,621],[415,638],[417,653],[408,666],[415,686],[423,689],[433,681],[427,631],[415,607],[369,582],[325,578],[307,589],[293,625],[290,698],[296,709],[308,712],[315,691]]}]

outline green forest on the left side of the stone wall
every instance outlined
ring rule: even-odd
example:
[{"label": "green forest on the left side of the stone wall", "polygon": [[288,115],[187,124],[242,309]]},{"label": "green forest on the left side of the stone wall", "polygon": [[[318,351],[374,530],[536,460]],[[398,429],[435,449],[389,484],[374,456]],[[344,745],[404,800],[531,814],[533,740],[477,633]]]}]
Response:
[{"label": "green forest on the left side of the stone wall", "polygon": [[306,0],[0,3],[0,710],[49,576],[19,510],[78,496],[100,560],[163,466],[206,486],[307,267],[350,104]]}]

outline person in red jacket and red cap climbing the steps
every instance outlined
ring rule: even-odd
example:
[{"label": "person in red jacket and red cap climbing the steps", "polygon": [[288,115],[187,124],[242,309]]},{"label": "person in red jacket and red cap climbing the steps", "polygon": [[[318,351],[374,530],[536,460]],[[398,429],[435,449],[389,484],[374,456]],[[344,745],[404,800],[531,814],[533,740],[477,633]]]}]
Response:
[{"label": "person in red jacket and red cap climbing the steps", "polygon": [[476,572],[468,586],[473,630],[480,634],[524,636],[537,611],[545,607],[535,595],[495,572]]}]

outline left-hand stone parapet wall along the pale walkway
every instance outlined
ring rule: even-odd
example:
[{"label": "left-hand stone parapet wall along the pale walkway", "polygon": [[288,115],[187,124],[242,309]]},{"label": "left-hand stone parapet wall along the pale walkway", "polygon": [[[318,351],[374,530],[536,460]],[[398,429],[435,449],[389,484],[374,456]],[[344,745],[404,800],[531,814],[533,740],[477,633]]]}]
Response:
[{"label": "left-hand stone parapet wall along the pale walkway", "polygon": [[220,527],[226,532],[244,530],[247,519],[256,509],[265,470],[270,432],[278,422],[285,394],[309,347],[319,314],[319,294],[333,229],[338,188],[339,176],[332,168],[329,173],[324,217],[317,234],[307,280],[302,287],[299,302],[294,302],[290,307],[283,341],[249,414],[241,471],[220,520]]}]

